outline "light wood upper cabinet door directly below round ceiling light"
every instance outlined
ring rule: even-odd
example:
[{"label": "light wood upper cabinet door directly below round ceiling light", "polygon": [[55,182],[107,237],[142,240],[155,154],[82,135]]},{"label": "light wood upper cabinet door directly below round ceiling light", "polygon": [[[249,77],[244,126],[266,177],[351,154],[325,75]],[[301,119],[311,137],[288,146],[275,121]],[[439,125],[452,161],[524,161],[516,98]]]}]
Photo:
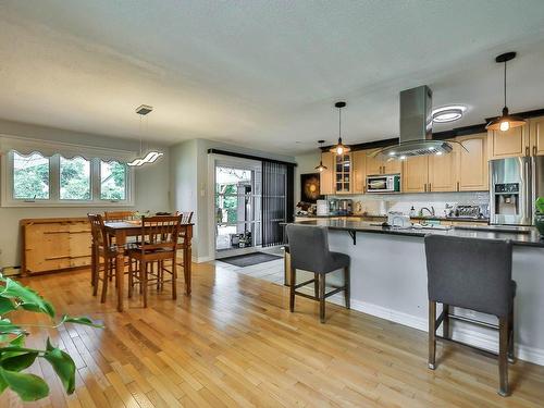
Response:
[{"label": "light wood upper cabinet door directly below round ceiling light", "polygon": [[[429,156],[429,191],[457,190],[457,162],[459,151],[457,144],[449,154]],[[486,160],[486,158],[484,158]]]}]

